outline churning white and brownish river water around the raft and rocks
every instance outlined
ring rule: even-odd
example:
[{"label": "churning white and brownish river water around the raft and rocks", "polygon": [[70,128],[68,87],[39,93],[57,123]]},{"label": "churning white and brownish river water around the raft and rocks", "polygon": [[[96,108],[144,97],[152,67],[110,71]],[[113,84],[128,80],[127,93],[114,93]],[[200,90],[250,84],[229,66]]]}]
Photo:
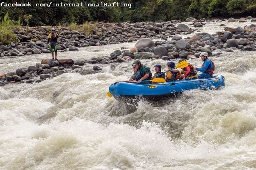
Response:
[{"label": "churning white and brownish river water around the raft and rocks", "polygon": [[[224,21],[199,30],[223,31],[220,23],[250,24]],[[90,59],[133,45],[84,47],[58,55]],[[48,57],[0,58],[0,73]],[[255,52],[210,59],[216,74],[226,78],[224,88],[190,90],[161,103],[140,101],[133,111],[106,95],[111,83],[130,78],[132,61],[98,64],[103,70],[96,74],[84,73],[93,66],[87,64],[82,74],[70,71],[40,83],[0,87],[0,169],[256,169]],[[189,62],[202,64],[200,58]],[[167,69],[162,60],[142,63]]]}]

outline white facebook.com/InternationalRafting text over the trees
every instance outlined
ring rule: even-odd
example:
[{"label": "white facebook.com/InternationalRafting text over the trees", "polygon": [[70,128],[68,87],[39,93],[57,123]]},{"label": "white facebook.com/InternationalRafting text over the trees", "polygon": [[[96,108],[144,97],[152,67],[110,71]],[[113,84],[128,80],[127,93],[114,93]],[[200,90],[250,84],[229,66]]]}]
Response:
[{"label": "white facebook.com/InternationalRafting text over the trees", "polygon": [[113,3],[106,3],[106,2],[100,2],[100,3],[55,3],[55,2],[50,2],[50,3],[41,3],[41,4],[31,4],[30,2],[28,3],[12,3],[12,4],[8,4],[8,3],[4,3],[1,2],[0,6],[6,6],[6,7],[128,7],[131,8],[132,4],[126,4],[126,3],[118,3],[118,2],[113,2]]}]

